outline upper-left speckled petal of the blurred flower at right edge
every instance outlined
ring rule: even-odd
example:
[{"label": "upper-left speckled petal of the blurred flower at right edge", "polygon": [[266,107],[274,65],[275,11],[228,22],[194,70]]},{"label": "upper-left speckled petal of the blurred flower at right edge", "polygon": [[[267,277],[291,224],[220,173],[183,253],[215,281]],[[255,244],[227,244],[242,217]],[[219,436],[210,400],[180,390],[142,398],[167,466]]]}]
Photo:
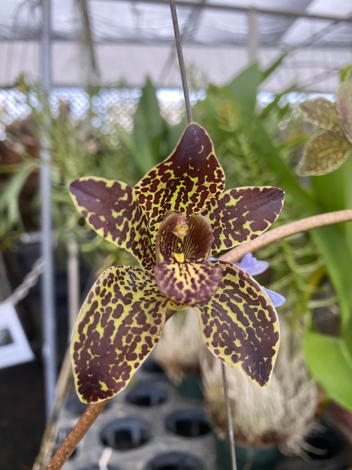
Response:
[{"label": "upper-left speckled petal of the blurred flower at right edge", "polygon": [[326,98],[314,98],[306,100],[300,104],[306,119],[326,131],[336,133],[342,139],[345,139],[344,130],[338,120],[335,104]]}]

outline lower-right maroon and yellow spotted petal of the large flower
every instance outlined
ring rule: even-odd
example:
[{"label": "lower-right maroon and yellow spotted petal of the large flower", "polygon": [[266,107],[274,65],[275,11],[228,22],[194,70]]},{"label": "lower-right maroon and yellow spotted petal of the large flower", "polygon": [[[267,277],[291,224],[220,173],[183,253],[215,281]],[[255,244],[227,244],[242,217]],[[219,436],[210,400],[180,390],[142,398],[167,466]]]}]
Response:
[{"label": "lower-right maroon and yellow spotted petal of the large flower", "polygon": [[255,384],[268,385],[279,347],[273,304],[254,279],[224,261],[219,289],[194,308],[207,347],[226,364],[242,370]]}]

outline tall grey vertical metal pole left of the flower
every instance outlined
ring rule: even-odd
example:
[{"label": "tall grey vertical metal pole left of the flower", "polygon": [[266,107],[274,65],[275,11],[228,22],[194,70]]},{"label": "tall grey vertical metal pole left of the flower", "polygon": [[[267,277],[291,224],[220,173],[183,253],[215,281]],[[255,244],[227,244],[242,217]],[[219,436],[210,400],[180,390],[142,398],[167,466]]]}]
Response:
[{"label": "tall grey vertical metal pole left of the flower", "polygon": [[[50,0],[43,0],[43,23],[41,41],[41,82],[46,98],[51,86],[51,11]],[[47,103],[48,104],[48,103]],[[56,319],[54,308],[54,269],[51,235],[51,156],[47,138],[47,126],[41,142],[40,157],[40,223],[41,223],[41,253],[44,261],[42,274],[42,322],[43,322],[43,362],[46,418],[48,419],[54,405],[55,385],[57,376],[56,360]]]}]

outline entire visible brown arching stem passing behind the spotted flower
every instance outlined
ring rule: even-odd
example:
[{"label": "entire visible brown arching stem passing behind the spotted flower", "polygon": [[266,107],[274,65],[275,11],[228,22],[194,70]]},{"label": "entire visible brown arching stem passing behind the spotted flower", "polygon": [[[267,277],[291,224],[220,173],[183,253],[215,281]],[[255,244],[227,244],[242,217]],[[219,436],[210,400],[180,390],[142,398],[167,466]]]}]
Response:
[{"label": "entire visible brown arching stem passing behind the spotted flower", "polygon": [[[332,225],[341,222],[352,221],[352,209],[346,209],[344,211],[326,212],[325,214],[314,215],[307,217],[306,219],[300,219],[296,222],[291,222],[281,227],[274,228],[269,232],[251,240],[250,242],[239,245],[232,250],[228,251],[225,255],[222,255],[220,259],[223,261],[229,261],[234,263],[238,259],[242,258],[245,253],[249,251],[257,251],[270,243],[281,240],[291,235],[295,235],[306,230],[312,230],[314,228],[323,227],[324,225]],[[173,310],[167,309],[166,320],[172,316]],[[69,433],[61,447],[58,449],[54,457],[51,459],[46,467],[46,470],[60,470],[80,440],[84,437],[84,434],[92,426],[100,412],[106,405],[106,401],[100,403],[93,403],[85,410],[84,414],[79,418],[76,426]]]}]

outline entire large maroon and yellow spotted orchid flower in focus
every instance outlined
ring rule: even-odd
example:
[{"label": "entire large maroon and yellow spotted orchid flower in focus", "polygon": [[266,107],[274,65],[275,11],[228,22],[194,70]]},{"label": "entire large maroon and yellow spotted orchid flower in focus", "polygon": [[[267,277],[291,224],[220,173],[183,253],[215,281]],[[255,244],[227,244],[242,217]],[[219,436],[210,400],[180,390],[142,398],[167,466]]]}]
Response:
[{"label": "entire large maroon and yellow spotted orchid flower in focus", "polygon": [[166,307],[192,305],[214,355],[268,384],[279,344],[275,308],[243,269],[206,260],[264,232],[284,193],[272,187],[222,193],[224,185],[213,143],[195,123],[135,188],[96,177],[71,183],[87,223],[142,266],[107,269],[84,301],[71,344],[82,401],[110,398],[128,384],[161,336]]}]

